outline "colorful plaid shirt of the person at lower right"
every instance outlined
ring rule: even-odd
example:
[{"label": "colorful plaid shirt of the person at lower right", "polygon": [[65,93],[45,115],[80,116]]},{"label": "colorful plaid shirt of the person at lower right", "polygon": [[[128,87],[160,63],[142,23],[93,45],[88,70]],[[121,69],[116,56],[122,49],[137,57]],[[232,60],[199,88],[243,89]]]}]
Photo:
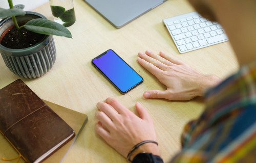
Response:
[{"label": "colorful plaid shirt of the person at lower right", "polygon": [[209,89],[205,102],[171,162],[256,162],[256,62]]}]

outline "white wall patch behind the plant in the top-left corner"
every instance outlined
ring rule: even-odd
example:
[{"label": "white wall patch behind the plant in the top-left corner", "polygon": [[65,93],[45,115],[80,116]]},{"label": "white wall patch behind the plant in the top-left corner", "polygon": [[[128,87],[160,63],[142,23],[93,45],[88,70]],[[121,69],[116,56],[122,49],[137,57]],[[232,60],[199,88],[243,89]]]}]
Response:
[{"label": "white wall patch behind the plant in the top-left corner", "polygon": [[[45,3],[47,3],[49,0],[13,0],[13,6],[18,4],[25,5],[24,10],[25,11],[31,11]],[[0,0],[0,7],[4,9],[8,9],[8,1],[7,0]]]}]

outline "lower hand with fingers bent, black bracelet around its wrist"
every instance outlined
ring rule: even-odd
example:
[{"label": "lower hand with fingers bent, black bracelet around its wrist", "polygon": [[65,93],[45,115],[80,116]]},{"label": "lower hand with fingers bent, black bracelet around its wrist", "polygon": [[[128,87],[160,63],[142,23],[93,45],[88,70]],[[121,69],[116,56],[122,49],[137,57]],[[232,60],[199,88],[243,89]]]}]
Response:
[{"label": "lower hand with fingers bent, black bracelet around its wrist", "polygon": [[[146,140],[156,141],[153,121],[140,103],[136,103],[139,117],[114,98],[98,102],[97,108],[95,117],[99,122],[95,125],[96,133],[124,157],[136,144]],[[156,144],[146,143],[136,149],[130,159],[140,152],[160,155]]]}]

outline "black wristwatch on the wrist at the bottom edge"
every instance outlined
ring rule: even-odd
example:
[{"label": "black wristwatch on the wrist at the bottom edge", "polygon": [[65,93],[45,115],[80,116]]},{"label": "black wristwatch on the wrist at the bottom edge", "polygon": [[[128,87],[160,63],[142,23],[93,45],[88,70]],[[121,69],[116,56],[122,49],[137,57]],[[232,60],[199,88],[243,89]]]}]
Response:
[{"label": "black wristwatch on the wrist at the bottom edge", "polygon": [[132,163],[163,163],[163,159],[160,156],[152,153],[139,153],[134,158]]}]

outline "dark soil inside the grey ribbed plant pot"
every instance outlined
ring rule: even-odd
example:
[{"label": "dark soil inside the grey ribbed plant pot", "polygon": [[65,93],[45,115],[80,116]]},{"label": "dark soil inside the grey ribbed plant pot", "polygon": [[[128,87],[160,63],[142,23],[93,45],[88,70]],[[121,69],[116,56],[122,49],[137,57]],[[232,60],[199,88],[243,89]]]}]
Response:
[{"label": "dark soil inside the grey ribbed plant pot", "polygon": [[20,29],[20,33],[22,35],[18,33],[18,30],[15,27],[12,28],[4,36],[1,44],[12,49],[22,49],[35,45],[45,37],[45,35],[28,31],[25,28]]}]

